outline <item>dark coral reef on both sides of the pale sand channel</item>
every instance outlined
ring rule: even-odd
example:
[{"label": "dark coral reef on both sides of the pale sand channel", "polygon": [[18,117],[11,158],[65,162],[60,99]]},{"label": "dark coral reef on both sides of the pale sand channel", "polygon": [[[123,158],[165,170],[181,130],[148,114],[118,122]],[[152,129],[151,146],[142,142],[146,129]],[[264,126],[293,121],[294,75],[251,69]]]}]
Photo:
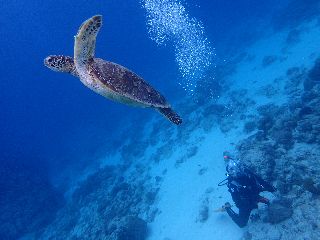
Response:
[{"label": "dark coral reef on both sides of the pale sand channel", "polygon": [[[273,61],[266,59],[265,66]],[[226,88],[227,97],[207,101],[201,108],[194,102],[181,104],[185,125],[179,128],[155,120],[148,130],[137,123],[142,130],[131,132],[131,137],[126,136],[126,142],[117,146],[121,164],[105,166],[80,182],[55,221],[37,236],[146,239],[148,223],[161,212],[156,205],[167,173],[167,166],[161,161],[174,156],[175,167],[180,167],[194,159],[203,137],[193,133],[209,133],[216,126],[225,134],[243,129],[246,137],[236,143],[239,159],[278,189],[270,206],[252,215],[243,239],[265,239],[265,235],[268,239],[298,239],[292,233],[299,233],[299,239],[318,239],[319,216],[314,213],[320,210],[319,69],[320,60],[310,70],[290,68],[284,76],[274,79],[274,85],[256,92],[270,102],[275,94],[285,94],[287,102],[279,105],[256,106],[247,90]],[[150,146],[152,150],[146,151]],[[175,146],[185,149],[179,152],[180,157],[176,156]],[[152,175],[150,169],[158,166],[164,170],[157,169]],[[205,178],[208,167],[197,166],[195,174]],[[210,191],[199,200],[195,219],[198,224],[210,217]]]}]

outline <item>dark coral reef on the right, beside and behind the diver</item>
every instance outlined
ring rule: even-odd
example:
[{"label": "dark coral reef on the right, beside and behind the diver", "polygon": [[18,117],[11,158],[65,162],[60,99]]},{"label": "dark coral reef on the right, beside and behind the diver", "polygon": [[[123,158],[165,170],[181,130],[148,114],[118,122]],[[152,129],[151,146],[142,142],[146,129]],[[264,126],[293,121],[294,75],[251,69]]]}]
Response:
[{"label": "dark coral reef on the right, beside and behind the diver", "polygon": [[[257,130],[237,144],[239,157],[278,191],[269,208],[250,220],[242,239],[319,239],[320,60],[307,71],[290,68],[288,103],[257,109]],[[246,126],[246,125],[245,125]]]}]

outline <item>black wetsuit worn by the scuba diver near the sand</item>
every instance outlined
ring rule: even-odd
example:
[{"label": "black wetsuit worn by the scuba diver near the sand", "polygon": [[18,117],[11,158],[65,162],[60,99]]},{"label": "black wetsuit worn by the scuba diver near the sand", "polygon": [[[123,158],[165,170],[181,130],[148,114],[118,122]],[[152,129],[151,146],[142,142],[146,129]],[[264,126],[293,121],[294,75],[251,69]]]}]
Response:
[{"label": "black wetsuit worn by the scuba diver near the sand", "polygon": [[268,203],[267,199],[259,195],[260,192],[275,191],[271,184],[246,168],[236,177],[228,176],[227,186],[232,200],[239,208],[239,214],[235,213],[230,207],[227,207],[226,211],[241,228],[247,225],[251,211],[258,208],[258,202]]}]

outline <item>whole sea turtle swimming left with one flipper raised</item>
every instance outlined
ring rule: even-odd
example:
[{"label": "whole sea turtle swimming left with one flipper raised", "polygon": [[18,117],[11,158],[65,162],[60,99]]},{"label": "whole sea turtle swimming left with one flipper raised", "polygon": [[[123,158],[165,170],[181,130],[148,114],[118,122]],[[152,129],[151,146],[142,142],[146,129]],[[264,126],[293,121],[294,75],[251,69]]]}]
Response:
[{"label": "whole sea turtle swimming left with one flipper raised", "polygon": [[166,99],[145,80],[119,64],[94,57],[101,25],[101,15],[86,20],[75,36],[74,57],[51,55],[45,58],[44,65],[80,78],[85,86],[108,99],[131,106],[154,108],[171,122],[181,124],[182,119]]}]

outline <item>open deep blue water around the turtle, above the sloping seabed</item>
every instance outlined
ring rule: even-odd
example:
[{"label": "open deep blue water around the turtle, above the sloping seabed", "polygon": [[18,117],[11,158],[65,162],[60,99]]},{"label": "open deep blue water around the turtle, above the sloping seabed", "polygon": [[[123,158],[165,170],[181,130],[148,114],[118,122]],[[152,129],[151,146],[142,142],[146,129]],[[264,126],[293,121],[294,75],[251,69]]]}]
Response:
[{"label": "open deep blue water around the turtle, above the sloping seabed", "polygon": [[[40,225],[45,227],[66,201],[68,183],[56,182],[63,170],[81,172],[106,152],[116,151],[110,146],[116,148],[124,141],[119,140],[118,132],[131,126],[130,134],[139,135],[141,119],[148,122],[158,114],[108,101],[71,75],[50,71],[43,65],[43,59],[50,54],[73,55],[74,35],[85,19],[103,15],[96,47],[98,57],[143,76],[176,106],[187,97],[197,102],[221,94],[214,77],[211,82],[202,78],[207,72],[215,75],[216,69],[225,66],[233,54],[263,38],[266,26],[278,31],[319,13],[318,1],[314,0],[159,0],[184,6],[187,22],[201,29],[199,41],[205,39],[208,48],[204,49],[210,50],[209,57],[200,56],[200,70],[191,67],[188,71],[195,75],[186,77],[185,69],[181,69],[184,58],[177,60],[177,49],[196,47],[194,39],[184,45],[181,42],[186,39],[181,36],[186,35],[178,33],[168,34],[164,44],[157,42],[150,35],[145,2],[148,1],[0,2],[0,208],[6,209],[7,214],[0,221],[21,218],[25,224],[30,220],[26,212],[44,212]],[[195,86],[201,86],[201,79],[207,85],[197,91]],[[208,96],[208,92],[214,95]],[[63,174],[66,179],[73,178]],[[8,199],[29,196],[32,191],[39,198],[46,192],[45,199],[30,200],[28,209],[24,209],[23,200],[17,200],[15,210],[10,210]],[[41,218],[37,214],[34,216]],[[16,239],[35,230],[32,226],[8,228],[12,230],[8,235],[0,231],[1,239]]]}]

